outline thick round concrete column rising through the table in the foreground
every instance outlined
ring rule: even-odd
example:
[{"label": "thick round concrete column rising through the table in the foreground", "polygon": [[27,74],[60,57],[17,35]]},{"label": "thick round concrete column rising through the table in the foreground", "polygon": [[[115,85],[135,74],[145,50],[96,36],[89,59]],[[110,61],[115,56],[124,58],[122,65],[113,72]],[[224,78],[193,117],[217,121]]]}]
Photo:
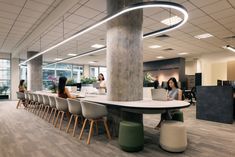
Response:
[{"label": "thick round concrete column rising through the table in the foreground", "polygon": [[[108,14],[142,0],[107,0]],[[126,13],[107,24],[109,100],[143,99],[143,11]]]}]

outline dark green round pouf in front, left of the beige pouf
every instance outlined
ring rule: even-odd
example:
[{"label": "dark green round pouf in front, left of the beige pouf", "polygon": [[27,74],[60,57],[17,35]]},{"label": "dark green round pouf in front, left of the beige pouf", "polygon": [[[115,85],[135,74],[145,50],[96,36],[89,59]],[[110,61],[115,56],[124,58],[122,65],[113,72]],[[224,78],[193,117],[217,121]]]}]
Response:
[{"label": "dark green round pouf in front, left of the beige pouf", "polygon": [[119,126],[118,143],[122,150],[137,152],[144,148],[143,124],[122,121]]}]

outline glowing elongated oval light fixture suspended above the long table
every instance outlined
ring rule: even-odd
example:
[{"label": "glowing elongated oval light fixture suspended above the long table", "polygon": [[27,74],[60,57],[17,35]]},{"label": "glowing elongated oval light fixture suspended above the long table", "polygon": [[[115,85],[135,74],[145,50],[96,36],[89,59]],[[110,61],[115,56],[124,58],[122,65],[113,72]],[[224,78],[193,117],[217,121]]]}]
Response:
[{"label": "glowing elongated oval light fixture suspended above the long table", "polygon": [[[162,34],[162,33],[166,33],[166,32],[172,31],[172,30],[174,30],[176,28],[179,28],[183,24],[185,24],[186,21],[188,20],[187,10],[182,5],[177,4],[177,3],[165,2],[165,1],[151,1],[151,2],[135,3],[135,4],[132,4],[132,5],[129,5],[129,6],[125,7],[125,8],[123,8],[122,10],[120,10],[120,11],[114,13],[114,14],[106,16],[105,18],[100,20],[98,23],[93,24],[91,26],[88,26],[88,27],[82,29],[81,31],[75,33],[71,37],[69,37],[69,38],[67,38],[67,39],[65,39],[65,40],[55,44],[54,46],[52,46],[52,47],[50,47],[50,48],[48,48],[48,49],[46,49],[44,51],[39,52],[38,54],[36,54],[36,55],[30,57],[29,59],[25,60],[24,62],[20,63],[19,66],[27,63],[28,61],[30,61],[30,60],[32,60],[32,59],[34,59],[34,58],[36,58],[36,57],[46,53],[46,52],[49,52],[49,51],[55,49],[56,47],[59,47],[59,46],[65,44],[65,43],[67,43],[68,41],[70,41],[70,40],[72,40],[72,39],[74,39],[74,38],[76,38],[76,37],[78,37],[78,36],[88,32],[88,31],[90,31],[90,30],[93,30],[94,28],[96,28],[96,27],[98,27],[98,26],[100,26],[100,25],[102,25],[102,24],[104,24],[104,23],[106,23],[106,22],[108,22],[108,21],[110,21],[110,20],[112,20],[112,19],[122,15],[122,14],[125,14],[125,13],[133,11],[133,10],[144,9],[144,8],[155,8],[155,7],[156,8],[161,7],[161,8],[175,9],[175,10],[181,12],[183,14],[184,18],[181,21],[179,21],[178,23],[174,24],[174,25],[171,25],[171,26],[168,26],[168,27],[165,27],[163,29],[159,29],[159,30],[156,30],[156,31],[153,31],[153,32],[146,33],[146,34],[143,35],[143,38],[148,38],[148,37],[151,37],[151,36],[156,36],[156,35],[159,35],[159,34]],[[106,48],[106,47],[104,47],[104,48]],[[96,49],[96,50],[97,51],[101,51],[100,49]],[[79,55],[74,56],[74,57],[65,58],[64,60],[61,60],[59,62],[62,62],[62,61],[68,60],[68,59],[78,58],[78,57],[84,56],[85,54],[89,55],[91,53],[96,53],[96,50],[93,50],[92,52],[89,51],[89,52],[86,52],[86,53],[82,53],[82,54],[79,54]],[[58,63],[58,62],[56,62],[56,63]],[[53,64],[55,64],[55,63],[53,63]]]}]

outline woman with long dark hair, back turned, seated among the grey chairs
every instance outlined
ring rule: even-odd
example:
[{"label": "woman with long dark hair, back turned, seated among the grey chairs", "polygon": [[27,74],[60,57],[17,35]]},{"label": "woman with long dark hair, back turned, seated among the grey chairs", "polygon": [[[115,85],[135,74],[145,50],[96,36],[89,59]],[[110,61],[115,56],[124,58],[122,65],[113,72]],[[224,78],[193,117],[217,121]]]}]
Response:
[{"label": "woman with long dark hair, back turned, seated among the grey chairs", "polygon": [[66,77],[60,77],[59,78],[59,85],[58,85],[58,97],[61,98],[73,98],[75,99],[76,97],[72,96],[69,92],[69,90],[65,87],[67,82]]}]

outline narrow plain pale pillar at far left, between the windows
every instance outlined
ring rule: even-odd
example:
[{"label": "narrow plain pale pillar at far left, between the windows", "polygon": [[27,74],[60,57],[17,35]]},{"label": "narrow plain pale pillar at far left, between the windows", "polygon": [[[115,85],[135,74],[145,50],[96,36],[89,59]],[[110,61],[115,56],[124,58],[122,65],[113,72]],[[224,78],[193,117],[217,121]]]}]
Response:
[{"label": "narrow plain pale pillar at far left, between the windows", "polygon": [[19,91],[20,83],[20,60],[19,58],[11,58],[11,100],[17,100],[16,92]]}]

